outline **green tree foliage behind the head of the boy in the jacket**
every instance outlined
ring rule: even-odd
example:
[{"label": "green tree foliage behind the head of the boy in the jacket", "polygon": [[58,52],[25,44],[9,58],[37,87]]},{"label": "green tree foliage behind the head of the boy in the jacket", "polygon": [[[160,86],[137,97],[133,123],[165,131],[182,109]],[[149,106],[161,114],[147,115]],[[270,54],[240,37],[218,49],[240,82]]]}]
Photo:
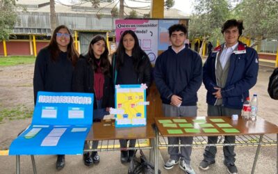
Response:
[{"label": "green tree foliage behind the head of the boy in the jacket", "polygon": [[278,38],[278,1],[242,0],[232,8],[231,0],[197,0],[189,24],[189,38],[207,36],[223,39],[220,32],[227,19],[243,20],[243,35],[251,38]]}]

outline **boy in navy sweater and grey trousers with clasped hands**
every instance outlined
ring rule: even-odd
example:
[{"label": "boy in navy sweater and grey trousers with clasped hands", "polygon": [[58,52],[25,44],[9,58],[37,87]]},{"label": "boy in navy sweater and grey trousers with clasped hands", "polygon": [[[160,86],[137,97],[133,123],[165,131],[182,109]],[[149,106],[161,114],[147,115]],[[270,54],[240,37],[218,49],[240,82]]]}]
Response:
[{"label": "boy in navy sweater and grey trousers with clasped hands", "polygon": [[[197,116],[197,90],[202,84],[202,60],[197,52],[188,49],[184,42],[187,29],[183,24],[174,24],[168,29],[170,46],[158,56],[154,67],[154,81],[163,102],[163,112],[169,117]],[[168,138],[169,144],[191,144],[193,137]],[[190,167],[191,147],[169,147],[170,159],[164,168],[178,164],[186,173],[195,173]]]}]

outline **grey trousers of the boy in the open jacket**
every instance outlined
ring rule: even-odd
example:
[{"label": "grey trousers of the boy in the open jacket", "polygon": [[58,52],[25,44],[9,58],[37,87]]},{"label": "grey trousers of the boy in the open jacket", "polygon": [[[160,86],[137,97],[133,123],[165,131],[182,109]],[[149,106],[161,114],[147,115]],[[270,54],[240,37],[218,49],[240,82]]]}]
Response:
[{"label": "grey trousers of the boy in the open jacket", "polygon": [[[208,104],[208,116],[232,116],[238,114],[240,116],[241,109],[229,109],[222,106],[212,106]],[[218,136],[208,136],[208,144],[217,143]],[[224,143],[235,143],[236,136],[224,136]],[[207,145],[204,150],[204,160],[215,161],[215,154],[217,148],[215,146]],[[234,145],[223,146],[224,164],[234,164],[236,161],[236,153],[234,152]]]}]

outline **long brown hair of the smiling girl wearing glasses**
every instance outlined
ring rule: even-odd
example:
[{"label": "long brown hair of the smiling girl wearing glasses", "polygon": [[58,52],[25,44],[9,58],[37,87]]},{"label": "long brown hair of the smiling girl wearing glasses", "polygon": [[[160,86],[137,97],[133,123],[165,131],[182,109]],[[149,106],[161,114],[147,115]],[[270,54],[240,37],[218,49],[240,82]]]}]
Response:
[{"label": "long brown hair of the smiling girl wearing glasses", "polygon": [[51,60],[56,62],[58,59],[59,53],[61,52],[58,47],[57,40],[56,40],[56,35],[60,29],[66,29],[67,32],[69,32],[69,34],[70,34],[70,43],[69,43],[69,45],[67,45],[67,58],[69,58],[70,61],[72,61],[72,65],[75,66],[77,59],[79,58],[79,53],[74,48],[74,44],[73,44],[74,39],[72,38],[72,34],[70,33],[70,30],[65,25],[57,26],[53,32],[53,35],[51,37],[51,40],[50,40],[50,43],[48,46],[50,53],[51,53]]}]

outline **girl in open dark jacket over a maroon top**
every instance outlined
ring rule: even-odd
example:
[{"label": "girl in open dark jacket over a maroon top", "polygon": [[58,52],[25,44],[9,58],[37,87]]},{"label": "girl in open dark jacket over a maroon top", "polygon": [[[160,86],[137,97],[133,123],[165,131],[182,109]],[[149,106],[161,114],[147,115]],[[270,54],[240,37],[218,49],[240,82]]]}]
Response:
[{"label": "girl in open dark jacket over a maroon top", "polygon": [[[74,69],[73,90],[81,93],[94,93],[94,121],[108,115],[113,107],[114,94],[111,76],[111,63],[108,60],[108,47],[101,35],[90,42],[88,53],[80,56]],[[92,142],[96,149],[99,141]],[[83,161],[86,166],[99,163],[97,152],[85,152]]]}]

